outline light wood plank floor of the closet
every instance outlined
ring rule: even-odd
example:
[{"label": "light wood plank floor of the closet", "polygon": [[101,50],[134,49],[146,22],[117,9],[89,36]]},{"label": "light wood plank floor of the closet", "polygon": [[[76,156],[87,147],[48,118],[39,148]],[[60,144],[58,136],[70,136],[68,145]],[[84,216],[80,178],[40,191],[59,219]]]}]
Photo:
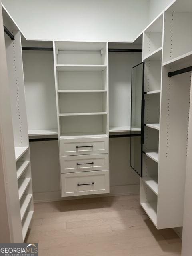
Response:
[{"label": "light wood plank floor of the closet", "polygon": [[40,256],[178,256],[181,240],[157,230],[138,195],[35,204],[27,243]]}]

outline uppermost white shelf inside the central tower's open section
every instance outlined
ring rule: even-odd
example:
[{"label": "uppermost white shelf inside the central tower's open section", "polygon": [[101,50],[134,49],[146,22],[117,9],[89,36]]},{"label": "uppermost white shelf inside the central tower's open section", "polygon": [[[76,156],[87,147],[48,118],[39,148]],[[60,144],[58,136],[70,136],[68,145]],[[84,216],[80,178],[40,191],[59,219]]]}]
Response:
[{"label": "uppermost white shelf inside the central tower's open section", "polygon": [[57,64],[56,70],[57,71],[65,71],[65,72],[99,72],[103,71],[107,65],[63,65],[63,64]]}]

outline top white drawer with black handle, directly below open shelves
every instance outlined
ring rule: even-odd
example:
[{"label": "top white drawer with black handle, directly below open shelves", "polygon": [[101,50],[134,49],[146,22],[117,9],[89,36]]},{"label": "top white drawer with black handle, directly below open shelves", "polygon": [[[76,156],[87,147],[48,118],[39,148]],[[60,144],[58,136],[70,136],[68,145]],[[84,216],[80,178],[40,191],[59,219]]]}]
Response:
[{"label": "top white drawer with black handle, directly below open shelves", "polygon": [[60,139],[60,156],[108,153],[108,137]]}]

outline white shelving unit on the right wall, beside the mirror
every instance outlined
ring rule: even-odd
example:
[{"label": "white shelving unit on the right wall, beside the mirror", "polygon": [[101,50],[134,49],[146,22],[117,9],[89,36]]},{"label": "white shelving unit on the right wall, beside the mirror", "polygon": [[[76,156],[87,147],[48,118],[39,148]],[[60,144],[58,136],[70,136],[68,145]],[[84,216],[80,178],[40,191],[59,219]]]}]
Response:
[{"label": "white shelving unit on the right wall, beside the mirror", "polygon": [[158,229],[180,227],[183,221],[191,72],[168,73],[192,65],[189,2],[176,0],[144,30],[140,204]]}]

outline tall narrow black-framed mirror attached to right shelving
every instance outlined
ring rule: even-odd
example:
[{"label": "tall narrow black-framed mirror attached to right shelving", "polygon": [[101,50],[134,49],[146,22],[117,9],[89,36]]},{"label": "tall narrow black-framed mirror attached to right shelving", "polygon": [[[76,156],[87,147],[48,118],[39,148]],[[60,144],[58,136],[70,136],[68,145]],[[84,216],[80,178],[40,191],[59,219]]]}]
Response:
[{"label": "tall narrow black-framed mirror attached to right shelving", "polygon": [[132,169],[142,177],[142,150],[144,143],[144,62],[132,68],[131,80],[130,160]]}]

